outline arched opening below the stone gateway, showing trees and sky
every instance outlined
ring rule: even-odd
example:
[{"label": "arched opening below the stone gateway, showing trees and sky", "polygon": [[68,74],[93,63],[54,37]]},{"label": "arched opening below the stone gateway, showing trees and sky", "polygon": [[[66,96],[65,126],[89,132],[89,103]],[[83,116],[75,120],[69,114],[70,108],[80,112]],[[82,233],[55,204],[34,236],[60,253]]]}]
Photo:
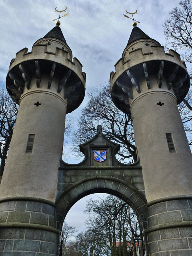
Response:
[{"label": "arched opening below the stone gateway, showing trees and sky", "polygon": [[[66,242],[68,228],[72,227],[77,232]],[[66,215],[62,232],[63,251],[69,248],[68,256],[86,252],[88,255],[144,255],[134,210],[124,200],[108,193],[90,194],[76,202]]]}]

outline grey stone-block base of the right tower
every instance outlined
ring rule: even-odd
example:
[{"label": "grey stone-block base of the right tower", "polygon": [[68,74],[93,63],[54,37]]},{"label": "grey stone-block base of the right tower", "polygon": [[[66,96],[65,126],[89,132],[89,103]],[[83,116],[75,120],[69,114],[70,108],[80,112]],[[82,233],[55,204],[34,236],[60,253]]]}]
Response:
[{"label": "grey stone-block base of the right tower", "polygon": [[192,200],[173,199],[149,206],[150,256],[192,255]]}]

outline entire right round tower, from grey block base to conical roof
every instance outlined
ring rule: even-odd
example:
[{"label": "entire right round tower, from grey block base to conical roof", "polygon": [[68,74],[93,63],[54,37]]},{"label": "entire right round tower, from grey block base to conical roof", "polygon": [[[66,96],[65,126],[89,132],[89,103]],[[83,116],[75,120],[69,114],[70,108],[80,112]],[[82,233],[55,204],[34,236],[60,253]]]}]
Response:
[{"label": "entire right round tower, from grey block base to conical roof", "polygon": [[192,154],[177,104],[190,79],[180,55],[134,26],[110,74],[114,104],[132,114],[148,206],[150,256],[192,254]]}]

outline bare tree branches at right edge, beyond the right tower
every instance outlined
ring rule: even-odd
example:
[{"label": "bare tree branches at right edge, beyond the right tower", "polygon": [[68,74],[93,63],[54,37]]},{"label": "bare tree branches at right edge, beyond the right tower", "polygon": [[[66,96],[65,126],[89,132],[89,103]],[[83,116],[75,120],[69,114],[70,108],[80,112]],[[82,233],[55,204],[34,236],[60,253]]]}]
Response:
[{"label": "bare tree branches at right edge, beyond the right tower", "polygon": [[[192,79],[192,1],[182,0],[170,12],[170,18],[164,22],[164,34],[169,48],[181,51],[182,59],[188,63],[189,75]],[[189,144],[192,144],[192,91],[179,105],[179,111],[184,124]]]}]

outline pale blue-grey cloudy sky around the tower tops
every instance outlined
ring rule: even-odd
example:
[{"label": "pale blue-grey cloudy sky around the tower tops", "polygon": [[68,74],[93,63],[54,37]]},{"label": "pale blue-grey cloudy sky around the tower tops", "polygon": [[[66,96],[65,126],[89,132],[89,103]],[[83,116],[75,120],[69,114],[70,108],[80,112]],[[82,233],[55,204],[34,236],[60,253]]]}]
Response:
[{"label": "pale blue-grey cloudy sky around the tower tops", "polygon": [[[36,40],[45,36],[58,18],[57,10],[67,6],[62,18],[62,32],[73,56],[86,72],[86,92],[108,82],[114,64],[121,58],[128,42],[132,20],[123,14],[138,11],[138,26],[160,44],[165,44],[162,24],[179,0],[1,0],[0,1],[0,85],[5,86],[10,60],[24,47],[29,51]],[[85,98],[74,117],[85,106]],[[82,230],[85,200],[73,206],[67,221]],[[70,216],[70,217],[69,217]],[[78,217],[77,217],[78,216]],[[79,219],[82,222],[79,222]]]}]

